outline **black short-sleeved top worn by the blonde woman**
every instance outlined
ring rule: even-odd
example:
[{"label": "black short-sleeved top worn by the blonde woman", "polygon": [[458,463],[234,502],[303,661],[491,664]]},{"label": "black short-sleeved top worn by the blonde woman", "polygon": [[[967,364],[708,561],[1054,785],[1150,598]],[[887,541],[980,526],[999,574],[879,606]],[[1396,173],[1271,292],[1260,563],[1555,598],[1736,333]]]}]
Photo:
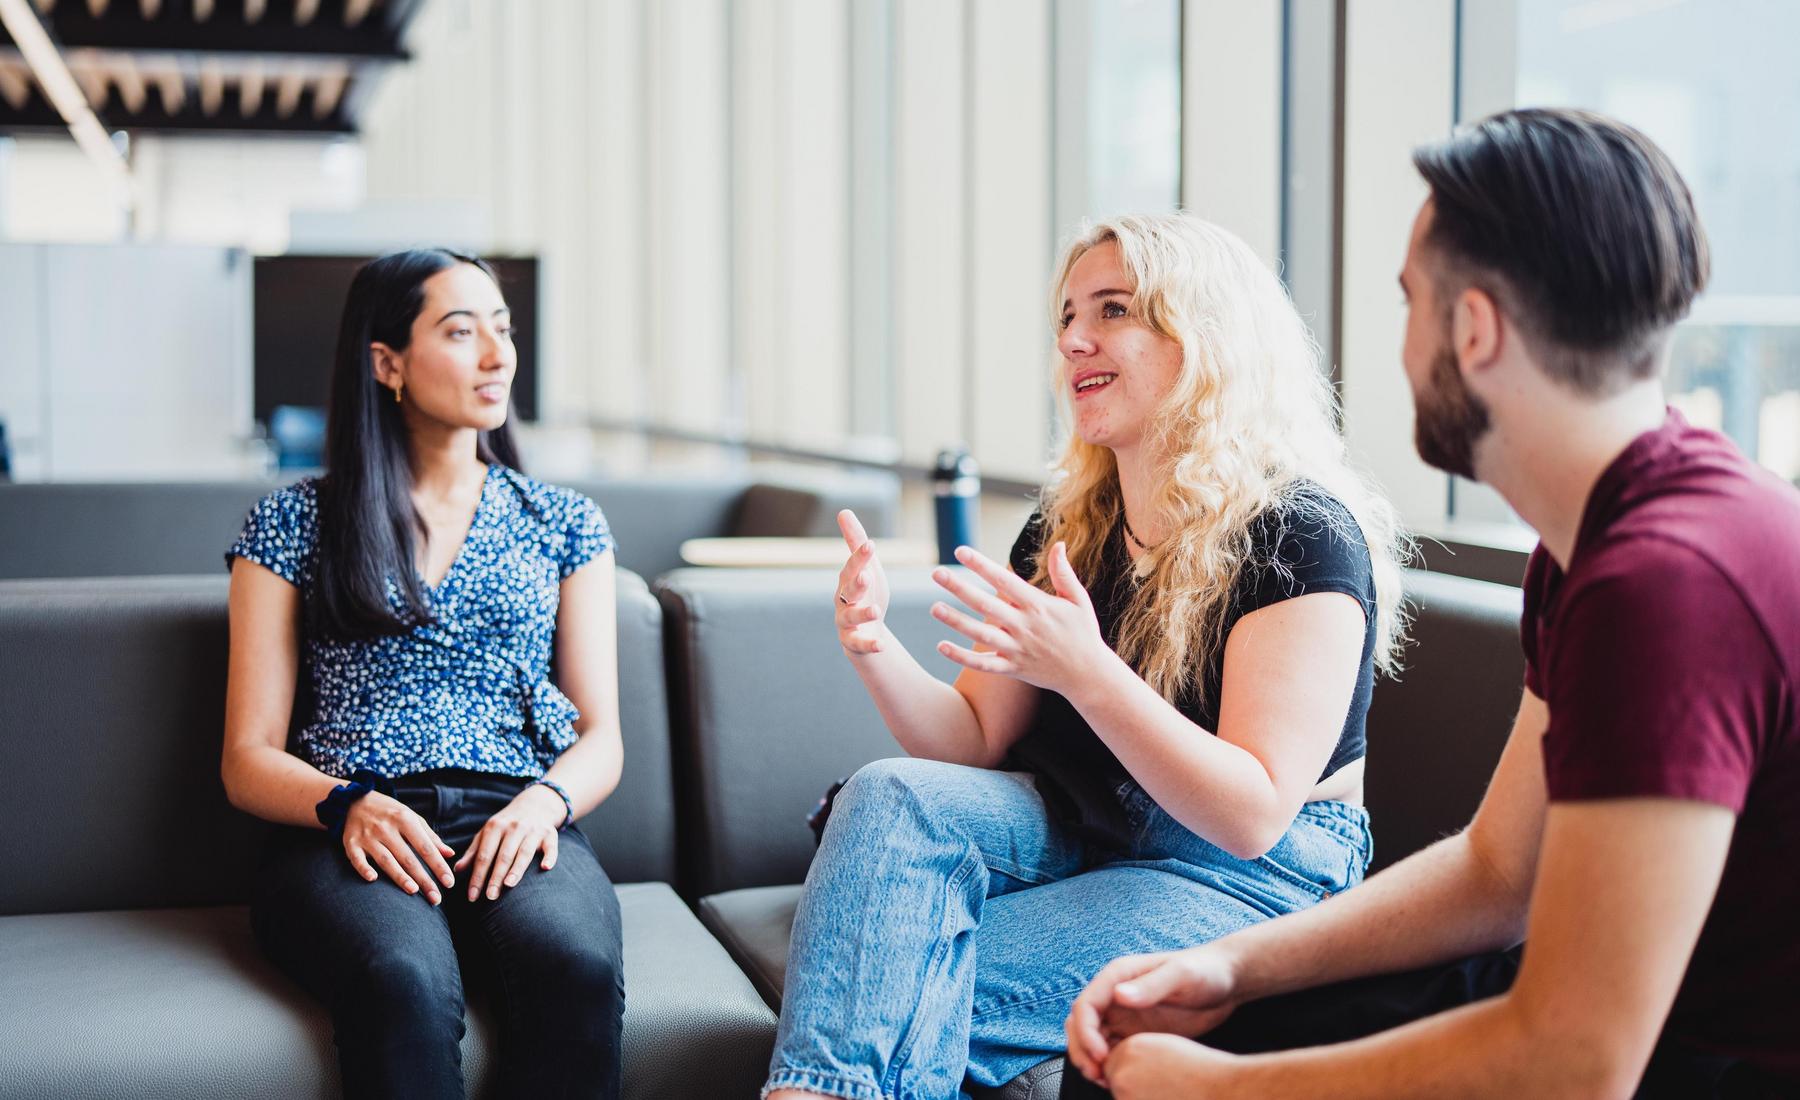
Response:
[{"label": "black short-sleeved top worn by the blonde woman", "polygon": [[[1310,481],[1300,482],[1289,499],[1251,522],[1251,553],[1238,573],[1226,607],[1224,630],[1231,634],[1238,619],[1253,610],[1305,596],[1343,592],[1363,607],[1363,654],[1355,695],[1345,717],[1343,733],[1321,778],[1359,760],[1366,744],[1370,697],[1375,690],[1375,578],[1363,529],[1348,508]],[[1012,569],[1030,578],[1044,545],[1044,517],[1033,515],[1012,549]],[[1100,619],[1107,645],[1118,650],[1120,619],[1130,601],[1136,580],[1125,549],[1125,533],[1114,526],[1102,551],[1102,565],[1093,578],[1082,578]],[[1139,670],[1141,672],[1141,670]],[[1197,688],[1177,702],[1177,709],[1201,729],[1219,729],[1219,691],[1224,684],[1224,645],[1208,659]],[[1010,767],[1037,774],[1039,790],[1069,825],[1091,837],[1118,839],[1127,830],[1121,805],[1132,783],[1100,735],[1055,691],[1039,693],[1037,715],[1010,756]]]}]

